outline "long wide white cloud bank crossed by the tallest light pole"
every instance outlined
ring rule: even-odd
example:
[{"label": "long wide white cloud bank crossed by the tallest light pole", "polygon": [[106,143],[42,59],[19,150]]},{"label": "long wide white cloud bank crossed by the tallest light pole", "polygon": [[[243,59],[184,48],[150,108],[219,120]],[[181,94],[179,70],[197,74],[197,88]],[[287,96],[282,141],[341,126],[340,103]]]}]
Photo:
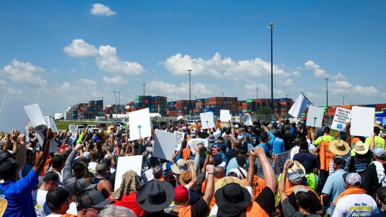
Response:
[{"label": "long wide white cloud bank crossed by the tallest light pole", "polygon": [[[202,58],[191,58],[189,55],[182,56],[177,53],[169,57],[165,62],[160,63],[170,73],[176,75],[185,75],[188,69],[195,75],[210,75],[213,77],[226,77],[234,79],[237,77],[262,77],[270,74],[270,63],[260,58],[252,60],[235,61],[230,57],[221,58],[216,54],[208,60]],[[281,67],[274,66],[273,74],[277,76],[289,76]]]}]

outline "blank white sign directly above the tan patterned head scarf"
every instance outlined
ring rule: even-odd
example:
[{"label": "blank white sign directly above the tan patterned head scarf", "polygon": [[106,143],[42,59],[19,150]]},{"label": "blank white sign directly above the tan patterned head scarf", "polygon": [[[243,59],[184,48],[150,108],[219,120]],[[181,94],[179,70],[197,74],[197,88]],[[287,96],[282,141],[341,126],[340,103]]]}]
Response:
[{"label": "blank white sign directly above the tan patterned head scarf", "polygon": [[139,177],[141,177],[141,168],[142,168],[142,155],[119,157],[117,163],[117,171],[115,178],[114,191],[120,187],[122,183],[123,173],[134,170]]}]

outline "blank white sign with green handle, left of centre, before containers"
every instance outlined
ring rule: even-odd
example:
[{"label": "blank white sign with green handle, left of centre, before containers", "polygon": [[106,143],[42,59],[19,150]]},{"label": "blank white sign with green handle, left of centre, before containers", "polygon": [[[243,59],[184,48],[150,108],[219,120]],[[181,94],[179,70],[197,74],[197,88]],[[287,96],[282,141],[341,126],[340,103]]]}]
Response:
[{"label": "blank white sign with green handle, left of centre, before containers", "polygon": [[129,113],[130,141],[151,136],[149,108]]}]

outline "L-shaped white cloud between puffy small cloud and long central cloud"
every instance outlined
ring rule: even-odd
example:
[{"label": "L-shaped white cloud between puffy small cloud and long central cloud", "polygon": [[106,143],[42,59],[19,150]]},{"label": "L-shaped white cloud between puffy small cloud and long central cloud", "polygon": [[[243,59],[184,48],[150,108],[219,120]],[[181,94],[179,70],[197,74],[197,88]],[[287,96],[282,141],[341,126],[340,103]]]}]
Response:
[{"label": "L-shaped white cloud between puffy small cloud and long central cloud", "polygon": [[97,57],[96,62],[103,71],[126,75],[137,75],[145,72],[145,69],[139,63],[121,61],[117,56],[117,49],[110,45],[100,46],[99,54],[100,56]]}]

